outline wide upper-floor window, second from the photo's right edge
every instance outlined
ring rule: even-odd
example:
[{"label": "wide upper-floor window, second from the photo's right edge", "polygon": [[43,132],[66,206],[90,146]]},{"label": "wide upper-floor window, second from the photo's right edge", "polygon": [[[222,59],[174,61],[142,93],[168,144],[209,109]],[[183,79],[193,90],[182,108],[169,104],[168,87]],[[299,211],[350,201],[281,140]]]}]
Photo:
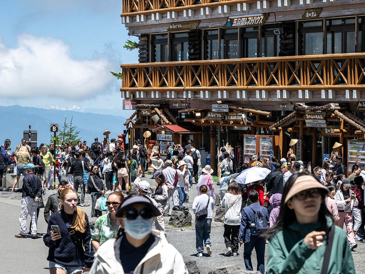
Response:
[{"label": "wide upper-floor window, second from the photo's right edge", "polygon": [[326,20],[327,54],[355,52],[355,18]]}]

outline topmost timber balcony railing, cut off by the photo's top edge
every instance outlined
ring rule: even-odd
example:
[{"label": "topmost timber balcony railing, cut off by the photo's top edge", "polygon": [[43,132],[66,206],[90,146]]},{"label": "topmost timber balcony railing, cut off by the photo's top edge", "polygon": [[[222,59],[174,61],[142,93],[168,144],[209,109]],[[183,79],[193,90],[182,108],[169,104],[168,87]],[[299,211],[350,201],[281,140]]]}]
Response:
[{"label": "topmost timber balcony railing, cut off by the photo's top edge", "polygon": [[153,12],[178,11],[179,9],[198,9],[224,4],[245,3],[249,0],[123,0],[122,15],[150,14]]}]

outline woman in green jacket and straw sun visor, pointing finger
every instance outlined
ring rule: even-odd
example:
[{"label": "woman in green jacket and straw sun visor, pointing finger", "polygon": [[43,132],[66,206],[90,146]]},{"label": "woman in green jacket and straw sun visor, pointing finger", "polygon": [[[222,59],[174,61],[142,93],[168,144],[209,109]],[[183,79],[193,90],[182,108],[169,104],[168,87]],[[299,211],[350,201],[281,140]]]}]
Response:
[{"label": "woman in green jacket and straw sun visor, pointing finger", "polygon": [[[307,172],[295,172],[289,178],[277,221],[266,232],[269,239],[267,274],[321,274],[322,267],[327,274],[355,273],[346,233],[334,225],[326,208],[327,193],[326,187]],[[329,261],[323,263],[330,234],[333,240],[330,240]]]}]

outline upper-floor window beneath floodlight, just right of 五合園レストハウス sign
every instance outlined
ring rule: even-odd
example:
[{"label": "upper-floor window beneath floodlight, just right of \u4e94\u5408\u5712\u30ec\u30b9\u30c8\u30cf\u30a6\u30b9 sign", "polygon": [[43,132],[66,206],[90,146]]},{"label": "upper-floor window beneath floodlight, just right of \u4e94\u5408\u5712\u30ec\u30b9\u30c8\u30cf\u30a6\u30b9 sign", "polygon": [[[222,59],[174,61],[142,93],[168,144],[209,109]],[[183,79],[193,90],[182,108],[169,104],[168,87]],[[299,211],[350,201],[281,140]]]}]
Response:
[{"label": "upper-floor window beneath floodlight, just right of \u4e94\u5408\u5712\u30ec\u30b9\u30c8\u30cf\u30a6\u30b9 sign", "polygon": [[274,33],[274,30],[280,30],[276,25],[264,26],[261,37],[261,57],[279,56],[280,52],[280,35]]}]

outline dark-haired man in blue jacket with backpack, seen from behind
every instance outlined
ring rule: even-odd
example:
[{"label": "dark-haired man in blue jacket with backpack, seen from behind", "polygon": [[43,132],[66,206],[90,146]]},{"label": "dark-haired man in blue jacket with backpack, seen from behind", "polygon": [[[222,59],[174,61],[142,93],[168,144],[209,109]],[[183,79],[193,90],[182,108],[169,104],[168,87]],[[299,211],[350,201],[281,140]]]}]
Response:
[{"label": "dark-haired man in blue jacket with backpack, seen from behind", "polygon": [[239,229],[239,244],[243,243],[243,259],[246,270],[253,270],[251,253],[256,250],[257,269],[261,274],[265,273],[265,240],[261,233],[269,227],[268,210],[258,203],[258,192],[251,190],[249,193],[251,204],[242,209],[241,228]]}]

